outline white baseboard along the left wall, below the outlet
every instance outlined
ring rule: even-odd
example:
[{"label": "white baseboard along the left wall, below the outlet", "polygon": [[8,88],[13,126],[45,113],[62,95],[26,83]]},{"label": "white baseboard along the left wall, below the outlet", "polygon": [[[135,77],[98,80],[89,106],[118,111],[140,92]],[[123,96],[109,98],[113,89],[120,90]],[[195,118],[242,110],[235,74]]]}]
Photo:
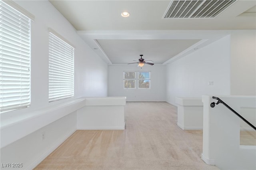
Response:
[{"label": "white baseboard along the left wall, below the outlet", "polygon": [[40,156],[36,162],[30,164],[30,166],[27,167],[28,170],[32,170],[34,169],[38,164],[40,164],[40,162],[42,162],[50,153],[52,153],[56,148],[58,148],[58,146],[60,146],[60,144],[62,144],[69,136],[71,136],[75,130],[72,130],[70,132],[68,132],[64,138],[62,138],[61,140],[59,140],[58,142],[56,142],[56,144],[54,144],[54,146],[52,146],[47,152],[45,152],[44,154],[42,154],[42,156]]}]

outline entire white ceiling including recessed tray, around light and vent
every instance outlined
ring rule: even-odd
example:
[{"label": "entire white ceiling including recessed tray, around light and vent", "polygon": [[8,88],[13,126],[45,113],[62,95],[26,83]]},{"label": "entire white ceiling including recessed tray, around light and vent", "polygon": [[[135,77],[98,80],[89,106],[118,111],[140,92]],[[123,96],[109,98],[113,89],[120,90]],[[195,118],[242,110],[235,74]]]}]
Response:
[{"label": "entire white ceiling including recessed tray, around light and vent", "polygon": [[[108,64],[166,64],[229,34],[256,29],[256,1],[237,0],[216,18],[163,19],[171,0],[50,0]],[[123,18],[121,12],[130,12]],[[246,12],[246,13],[244,13]]]}]

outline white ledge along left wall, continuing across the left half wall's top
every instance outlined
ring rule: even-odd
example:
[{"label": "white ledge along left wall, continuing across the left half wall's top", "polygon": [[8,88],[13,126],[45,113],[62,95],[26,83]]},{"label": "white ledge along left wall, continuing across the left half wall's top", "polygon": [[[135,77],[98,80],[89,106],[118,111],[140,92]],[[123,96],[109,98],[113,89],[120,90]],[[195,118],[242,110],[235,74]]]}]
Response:
[{"label": "white ledge along left wall, continuing across the left half wall's top", "polygon": [[126,97],[81,97],[16,117],[1,116],[1,148],[88,106],[124,106]]}]

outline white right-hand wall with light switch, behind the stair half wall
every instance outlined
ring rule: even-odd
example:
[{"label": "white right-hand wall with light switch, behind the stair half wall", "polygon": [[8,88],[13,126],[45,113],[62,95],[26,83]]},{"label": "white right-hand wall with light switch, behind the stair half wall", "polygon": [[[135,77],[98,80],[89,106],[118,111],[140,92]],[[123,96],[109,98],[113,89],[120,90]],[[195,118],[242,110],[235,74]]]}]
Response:
[{"label": "white right-hand wall with light switch, behind the stair half wall", "polygon": [[[176,97],[230,94],[230,36],[198,49],[166,66],[166,101]],[[214,85],[208,85],[214,81]]]}]

